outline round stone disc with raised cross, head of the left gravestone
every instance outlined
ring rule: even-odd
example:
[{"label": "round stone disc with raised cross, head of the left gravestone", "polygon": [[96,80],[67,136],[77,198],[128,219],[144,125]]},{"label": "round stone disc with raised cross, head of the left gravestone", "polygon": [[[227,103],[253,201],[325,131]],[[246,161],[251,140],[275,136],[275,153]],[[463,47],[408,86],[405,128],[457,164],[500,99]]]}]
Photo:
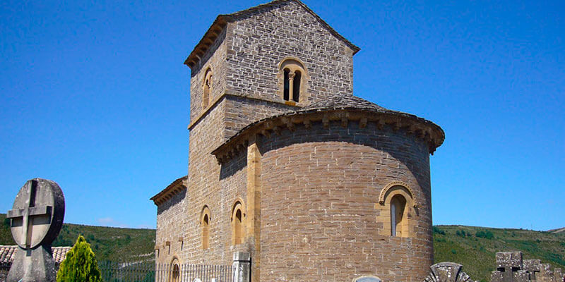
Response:
[{"label": "round stone disc with raised cross, head of the left gravestone", "polygon": [[64,216],[63,191],[57,183],[42,178],[28,180],[6,214],[13,240],[24,250],[50,246],[61,231]]}]

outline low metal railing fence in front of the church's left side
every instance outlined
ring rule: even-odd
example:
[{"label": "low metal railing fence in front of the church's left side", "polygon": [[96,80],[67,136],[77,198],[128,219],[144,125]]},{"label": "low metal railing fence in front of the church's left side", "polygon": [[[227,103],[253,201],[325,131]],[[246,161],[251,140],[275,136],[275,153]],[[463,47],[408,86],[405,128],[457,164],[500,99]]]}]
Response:
[{"label": "low metal railing fence in front of the church's left side", "polygon": [[232,282],[232,266],[155,264],[155,262],[99,262],[105,282]]}]

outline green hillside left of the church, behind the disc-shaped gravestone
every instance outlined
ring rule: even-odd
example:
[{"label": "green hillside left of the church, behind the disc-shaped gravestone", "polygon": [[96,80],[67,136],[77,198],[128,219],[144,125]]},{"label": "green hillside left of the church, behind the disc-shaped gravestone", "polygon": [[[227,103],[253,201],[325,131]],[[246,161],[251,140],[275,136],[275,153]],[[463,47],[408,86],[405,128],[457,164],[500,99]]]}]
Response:
[{"label": "green hillside left of the church, behind the disc-shaped gravestone", "polygon": [[[0,214],[0,245],[16,245],[6,214]],[[114,228],[64,223],[54,246],[72,246],[78,235],[90,243],[98,261],[136,262],[155,259],[155,229]]]}]

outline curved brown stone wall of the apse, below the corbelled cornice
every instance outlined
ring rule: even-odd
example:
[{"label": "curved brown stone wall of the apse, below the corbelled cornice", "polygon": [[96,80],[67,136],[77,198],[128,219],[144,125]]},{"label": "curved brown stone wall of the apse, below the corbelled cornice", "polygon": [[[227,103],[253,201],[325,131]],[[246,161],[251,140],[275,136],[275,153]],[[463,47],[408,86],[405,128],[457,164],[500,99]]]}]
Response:
[{"label": "curved brown stone wall of the apse, below the corbelled cornice", "polygon": [[[433,264],[428,145],[402,129],[312,123],[258,137],[261,281],[423,281]],[[410,185],[410,237],[383,235],[379,195]],[[390,223],[388,223],[390,224]]]}]

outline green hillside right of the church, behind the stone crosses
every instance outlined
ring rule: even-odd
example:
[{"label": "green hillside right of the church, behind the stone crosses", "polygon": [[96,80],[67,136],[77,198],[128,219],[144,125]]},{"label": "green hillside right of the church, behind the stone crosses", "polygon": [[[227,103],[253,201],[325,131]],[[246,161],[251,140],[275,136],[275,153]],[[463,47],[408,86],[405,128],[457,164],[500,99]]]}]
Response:
[{"label": "green hillside right of the church, behind the stone crosses", "polygon": [[496,252],[522,251],[524,259],[565,268],[565,233],[472,226],[434,226],[435,262],[463,264],[478,281],[490,281]]}]

